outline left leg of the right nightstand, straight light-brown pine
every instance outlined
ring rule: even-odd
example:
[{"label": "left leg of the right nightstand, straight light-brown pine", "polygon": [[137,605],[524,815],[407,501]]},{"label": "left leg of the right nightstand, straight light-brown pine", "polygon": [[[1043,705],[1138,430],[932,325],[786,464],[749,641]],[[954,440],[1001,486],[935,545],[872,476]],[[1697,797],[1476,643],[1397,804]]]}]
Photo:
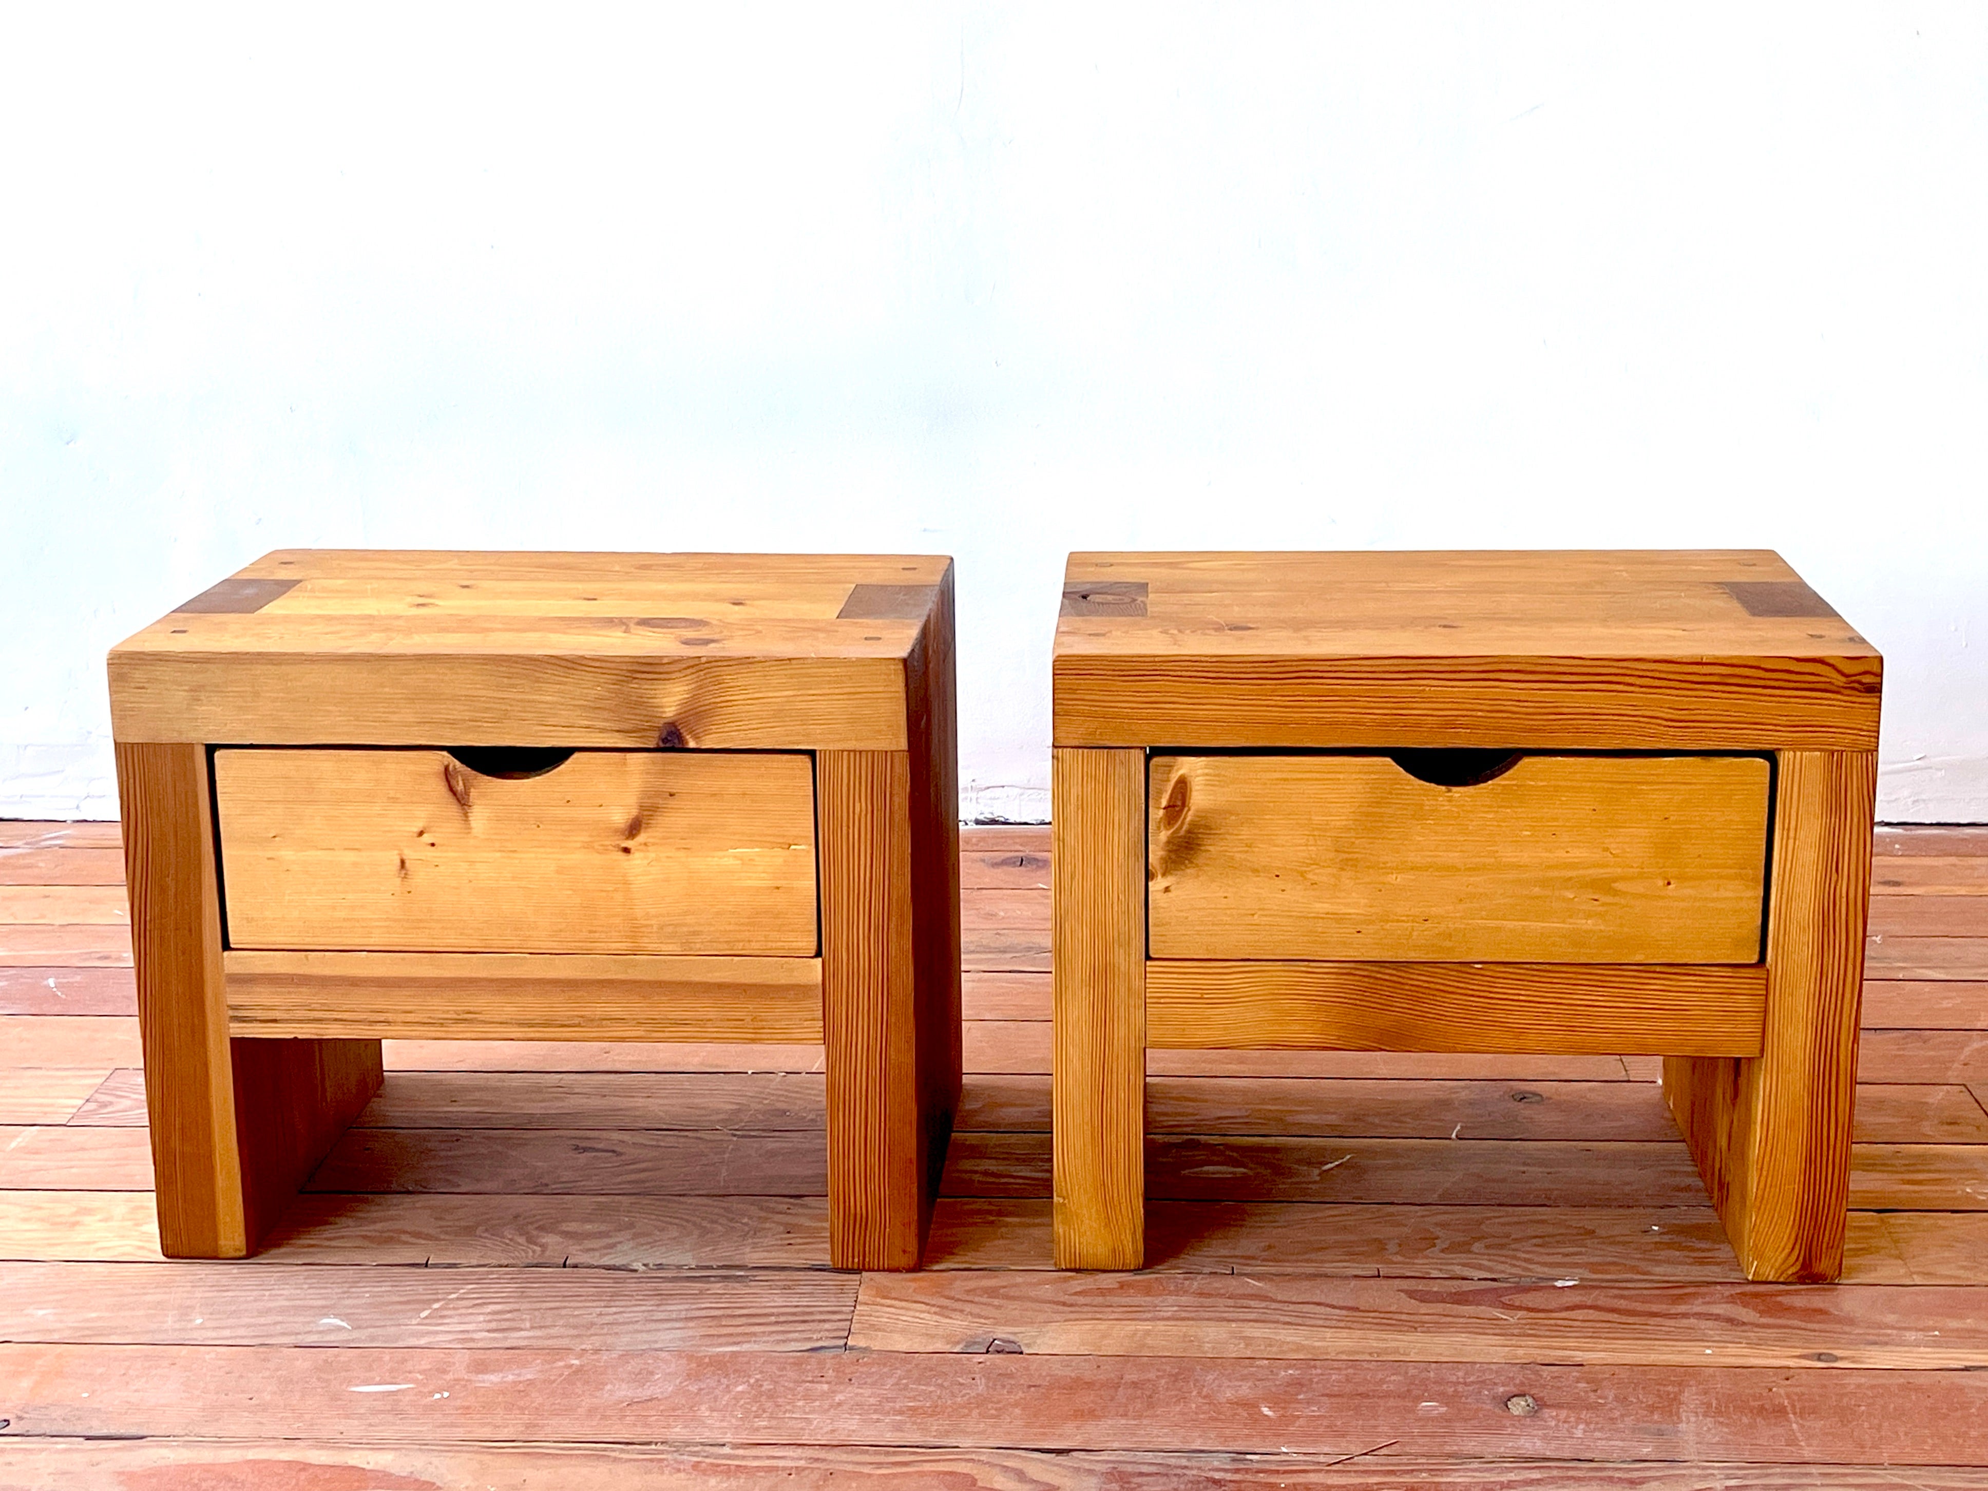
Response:
[{"label": "left leg of the right nightstand, straight light-brown pine", "polygon": [[1145,751],[1058,749],[1056,1266],[1145,1262]]}]

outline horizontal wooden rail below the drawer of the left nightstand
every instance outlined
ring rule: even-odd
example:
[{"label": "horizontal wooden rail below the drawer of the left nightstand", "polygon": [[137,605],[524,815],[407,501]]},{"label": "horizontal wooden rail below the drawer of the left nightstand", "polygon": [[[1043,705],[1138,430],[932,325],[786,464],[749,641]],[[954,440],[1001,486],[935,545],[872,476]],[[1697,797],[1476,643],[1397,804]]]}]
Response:
[{"label": "horizontal wooden rail below the drawer of the left nightstand", "polygon": [[237,1036],[819,1042],[817,958],[225,952]]}]

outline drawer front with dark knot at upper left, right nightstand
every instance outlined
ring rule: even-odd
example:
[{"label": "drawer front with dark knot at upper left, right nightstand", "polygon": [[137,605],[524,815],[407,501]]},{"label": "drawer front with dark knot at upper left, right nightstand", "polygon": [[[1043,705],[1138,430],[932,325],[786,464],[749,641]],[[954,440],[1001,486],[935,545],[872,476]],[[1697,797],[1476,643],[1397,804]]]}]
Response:
[{"label": "drawer front with dark knot at upper left, right nightstand", "polygon": [[1155,755],[1153,958],[1757,962],[1769,763]]}]

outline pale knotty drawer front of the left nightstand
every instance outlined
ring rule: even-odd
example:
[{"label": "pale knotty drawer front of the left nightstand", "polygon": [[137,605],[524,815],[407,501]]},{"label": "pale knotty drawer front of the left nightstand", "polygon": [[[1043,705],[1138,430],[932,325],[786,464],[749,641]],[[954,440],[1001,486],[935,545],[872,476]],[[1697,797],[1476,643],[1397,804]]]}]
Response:
[{"label": "pale knotty drawer front of the left nightstand", "polygon": [[801,753],[229,747],[215,811],[235,948],[815,954]]}]

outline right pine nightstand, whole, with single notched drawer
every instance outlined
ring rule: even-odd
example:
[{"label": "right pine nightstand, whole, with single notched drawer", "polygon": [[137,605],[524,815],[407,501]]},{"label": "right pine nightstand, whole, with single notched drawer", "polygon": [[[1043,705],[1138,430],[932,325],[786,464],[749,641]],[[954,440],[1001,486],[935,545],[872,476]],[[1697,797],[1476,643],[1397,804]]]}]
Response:
[{"label": "right pine nightstand, whole, with single notched drawer", "polygon": [[1773,553],[1074,555],[1058,1262],[1143,1262],[1147,1048],[1594,1052],[1835,1278],[1881,676]]}]

